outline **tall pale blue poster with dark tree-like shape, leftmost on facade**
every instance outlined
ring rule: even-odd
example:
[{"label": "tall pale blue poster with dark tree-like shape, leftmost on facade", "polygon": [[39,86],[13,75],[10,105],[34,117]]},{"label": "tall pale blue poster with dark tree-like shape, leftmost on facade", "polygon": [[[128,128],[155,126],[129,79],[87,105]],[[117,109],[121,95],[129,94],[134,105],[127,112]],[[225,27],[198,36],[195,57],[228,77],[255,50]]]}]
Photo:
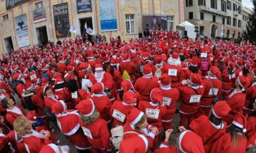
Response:
[{"label": "tall pale blue poster with dark tree-like shape, leftmost on facade", "polygon": [[19,47],[29,46],[30,42],[26,14],[15,17],[15,28]]}]

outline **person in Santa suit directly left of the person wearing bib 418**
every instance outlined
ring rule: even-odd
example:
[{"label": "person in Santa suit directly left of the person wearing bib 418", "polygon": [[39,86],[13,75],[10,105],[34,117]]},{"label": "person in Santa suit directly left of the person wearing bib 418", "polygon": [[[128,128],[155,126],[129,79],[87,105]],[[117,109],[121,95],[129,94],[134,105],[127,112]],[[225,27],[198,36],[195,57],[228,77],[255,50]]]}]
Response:
[{"label": "person in Santa suit directly left of the person wearing bib 418", "polygon": [[171,87],[171,77],[163,74],[160,78],[160,90],[163,93],[163,104],[166,106],[166,114],[162,117],[163,128],[165,131],[172,128],[172,120],[176,112],[176,101],[179,99],[180,92]]}]

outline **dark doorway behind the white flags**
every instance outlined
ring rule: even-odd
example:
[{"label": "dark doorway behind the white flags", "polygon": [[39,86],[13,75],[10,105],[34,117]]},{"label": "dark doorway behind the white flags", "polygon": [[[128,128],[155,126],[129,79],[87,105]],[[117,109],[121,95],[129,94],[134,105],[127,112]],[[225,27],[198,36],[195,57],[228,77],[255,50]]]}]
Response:
[{"label": "dark doorway behind the white flags", "polygon": [[92,36],[88,35],[86,33],[85,22],[87,23],[87,28],[90,27],[90,29],[93,30],[93,19],[91,17],[81,18],[81,19],[79,19],[79,22],[80,22],[80,32],[81,32],[81,36],[83,38],[83,41],[85,41],[86,39],[88,39],[88,41],[91,41]]}]

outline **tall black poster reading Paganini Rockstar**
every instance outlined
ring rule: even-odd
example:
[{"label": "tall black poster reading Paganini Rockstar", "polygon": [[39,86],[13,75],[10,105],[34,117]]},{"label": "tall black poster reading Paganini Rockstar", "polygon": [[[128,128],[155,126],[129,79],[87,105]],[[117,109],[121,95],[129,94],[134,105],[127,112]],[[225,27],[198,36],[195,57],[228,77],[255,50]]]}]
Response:
[{"label": "tall black poster reading Paganini Rockstar", "polygon": [[68,18],[68,3],[53,5],[54,25],[56,38],[70,36],[69,18]]}]

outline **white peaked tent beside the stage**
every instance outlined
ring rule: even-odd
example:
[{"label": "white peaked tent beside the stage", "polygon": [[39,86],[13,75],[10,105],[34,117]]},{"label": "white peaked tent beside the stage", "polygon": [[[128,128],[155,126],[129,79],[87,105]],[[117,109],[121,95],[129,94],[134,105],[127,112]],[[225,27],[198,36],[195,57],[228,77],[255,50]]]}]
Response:
[{"label": "white peaked tent beside the stage", "polygon": [[[183,28],[180,28],[180,27],[183,27]],[[184,29],[185,28],[185,31],[187,31],[187,36],[188,38],[196,38],[196,32],[194,32],[194,27],[195,25],[194,24],[191,24],[190,22],[188,21],[184,21],[182,22],[181,24],[177,25],[177,30],[180,29]],[[182,32],[183,35],[185,35],[185,33]]]}]

